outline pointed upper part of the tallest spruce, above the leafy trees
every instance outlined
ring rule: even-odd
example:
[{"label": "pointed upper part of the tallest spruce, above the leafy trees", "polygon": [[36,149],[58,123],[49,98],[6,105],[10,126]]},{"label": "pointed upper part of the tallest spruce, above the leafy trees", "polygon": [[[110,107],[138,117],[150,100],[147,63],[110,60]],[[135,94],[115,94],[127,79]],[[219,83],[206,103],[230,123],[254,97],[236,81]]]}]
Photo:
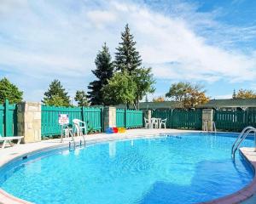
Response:
[{"label": "pointed upper part of the tallest spruce, above the leafy trees", "polygon": [[115,53],[116,70],[127,71],[131,74],[142,65],[142,59],[137,52],[136,42],[133,40],[128,24],[125,26],[125,31],[121,33],[121,40],[122,42],[119,42],[119,47],[116,48],[117,52]]}]

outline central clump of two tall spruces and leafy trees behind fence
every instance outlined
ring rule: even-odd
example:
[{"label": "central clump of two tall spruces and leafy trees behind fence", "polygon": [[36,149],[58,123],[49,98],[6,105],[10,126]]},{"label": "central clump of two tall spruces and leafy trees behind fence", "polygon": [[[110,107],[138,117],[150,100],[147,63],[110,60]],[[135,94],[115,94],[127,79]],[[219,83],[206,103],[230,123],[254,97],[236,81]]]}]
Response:
[{"label": "central clump of two tall spruces and leafy trees behind fence", "polygon": [[[154,92],[154,79],[151,68],[140,67],[142,59],[136,49],[129,26],[121,33],[121,42],[115,54],[116,73],[113,76],[108,48],[105,46],[96,57],[96,71],[99,79],[90,82],[91,105],[137,104],[148,93]],[[102,88],[103,87],[103,88]]]}]

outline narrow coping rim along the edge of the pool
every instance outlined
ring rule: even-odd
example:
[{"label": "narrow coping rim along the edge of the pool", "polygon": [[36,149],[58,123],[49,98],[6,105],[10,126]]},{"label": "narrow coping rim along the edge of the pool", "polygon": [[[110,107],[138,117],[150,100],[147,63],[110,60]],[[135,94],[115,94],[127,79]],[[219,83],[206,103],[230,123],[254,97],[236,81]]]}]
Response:
[{"label": "narrow coping rim along the edge of the pool", "polygon": [[[173,132],[170,132],[173,133]],[[187,130],[187,131],[178,131],[174,133],[202,133],[201,131],[193,131],[193,130]],[[144,135],[119,135],[119,137],[107,137],[105,138],[99,138],[99,139],[90,139],[87,140],[88,144],[98,144],[98,143],[104,143],[109,142],[113,140],[120,140],[120,139],[140,139],[140,138],[151,138],[158,136],[160,134],[165,133],[148,133]],[[88,136],[90,137],[90,136]],[[78,139],[81,139],[81,137],[77,137]],[[36,150],[27,150],[25,153],[21,153],[20,155],[14,156],[13,158],[4,161],[2,164],[0,163],[0,167],[4,167],[5,165],[8,165],[11,162],[14,162],[16,160],[19,160],[20,158],[24,156],[30,156],[37,154],[39,152],[47,151],[47,150],[55,150],[55,149],[61,149],[67,148],[68,143],[58,143],[58,144],[52,144],[48,147],[41,147]],[[233,194],[225,195],[223,197],[214,199],[212,201],[204,201],[199,202],[197,204],[235,204],[235,203],[241,203],[242,201],[246,201],[247,199],[251,198],[253,195],[256,195],[256,152],[254,152],[254,155],[251,155],[251,153],[254,152],[253,148],[240,148],[241,156],[246,159],[246,161],[249,162],[249,165],[253,167],[253,180],[247,184],[245,187],[243,187],[241,190],[236,191]],[[252,158],[254,157],[254,158]],[[9,194],[8,192],[4,191],[0,188],[0,204],[32,204],[31,201],[22,200],[18,197],[15,197],[14,195]]]}]

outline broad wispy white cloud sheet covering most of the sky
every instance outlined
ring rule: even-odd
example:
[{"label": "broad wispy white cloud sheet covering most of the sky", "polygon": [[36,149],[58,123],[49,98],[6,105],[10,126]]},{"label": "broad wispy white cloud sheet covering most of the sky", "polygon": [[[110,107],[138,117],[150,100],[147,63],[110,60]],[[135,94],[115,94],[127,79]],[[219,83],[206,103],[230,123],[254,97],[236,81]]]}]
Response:
[{"label": "broad wispy white cloud sheet covering most of the sky", "polygon": [[[16,3],[20,3],[19,9]],[[188,4],[179,4],[172,12],[186,10],[193,16],[193,25],[183,14],[160,14],[143,4],[115,0],[108,3],[4,0],[3,5],[0,77],[8,72],[24,88],[27,99],[32,99],[31,93],[37,90],[43,93],[53,78],[61,79],[72,90],[86,88],[93,79],[90,70],[95,68],[97,51],[107,42],[114,53],[126,23],[135,36],[143,64],[153,67],[158,80],[236,82],[256,77],[256,54],[208,44],[207,37],[199,36],[193,28],[216,22],[209,17],[212,14],[195,14],[195,8],[189,8]],[[26,77],[30,77],[29,82]]]}]

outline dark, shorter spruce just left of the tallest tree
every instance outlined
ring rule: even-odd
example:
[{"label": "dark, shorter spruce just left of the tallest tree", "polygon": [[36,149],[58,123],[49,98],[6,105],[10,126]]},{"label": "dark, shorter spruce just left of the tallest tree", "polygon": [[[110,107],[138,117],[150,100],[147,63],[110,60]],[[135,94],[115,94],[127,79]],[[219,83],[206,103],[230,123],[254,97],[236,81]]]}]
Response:
[{"label": "dark, shorter spruce just left of the tallest tree", "polygon": [[97,77],[97,80],[90,82],[88,86],[90,105],[108,105],[108,102],[104,102],[102,87],[107,85],[108,80],[113,77],[113,63],[106,42],[97,54],[95,64],[96,70],[93,70],[92,73]]}]

